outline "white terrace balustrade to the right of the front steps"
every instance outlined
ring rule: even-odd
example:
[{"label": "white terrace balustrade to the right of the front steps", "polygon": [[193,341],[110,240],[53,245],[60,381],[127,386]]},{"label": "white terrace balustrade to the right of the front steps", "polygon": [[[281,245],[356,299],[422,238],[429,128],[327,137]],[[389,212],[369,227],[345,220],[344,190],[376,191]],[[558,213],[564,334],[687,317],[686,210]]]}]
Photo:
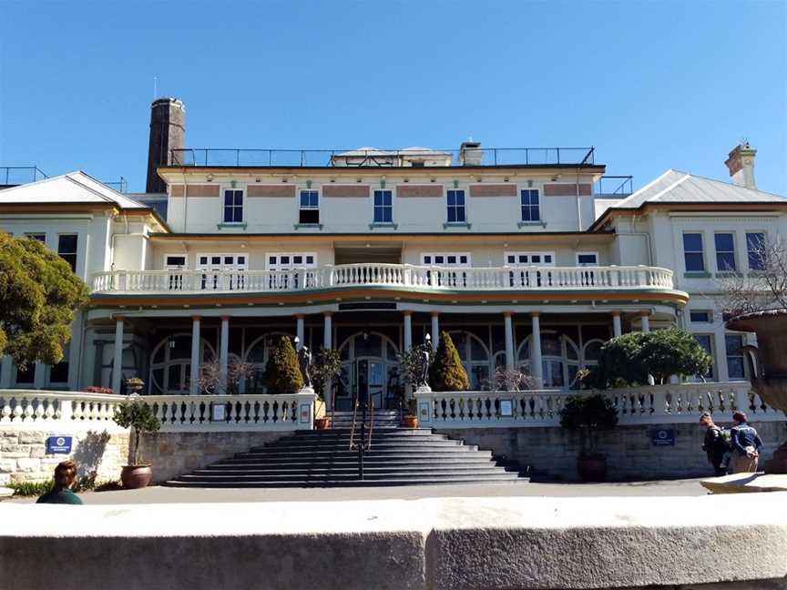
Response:
[{"label": "white terrace balustrade to the right of the front steps", "polygon": [[[415,392],[419,421],[444,428],[511,428],[557,426],[559,413],[570,395],[593,392],[535,390],[525,392]],[[618,410],[621,425],[698,422],[702,412],[718,422],[730,422],[737,410],[751,422],[785,421],[745,381],[680,383],[599,392]]]}]

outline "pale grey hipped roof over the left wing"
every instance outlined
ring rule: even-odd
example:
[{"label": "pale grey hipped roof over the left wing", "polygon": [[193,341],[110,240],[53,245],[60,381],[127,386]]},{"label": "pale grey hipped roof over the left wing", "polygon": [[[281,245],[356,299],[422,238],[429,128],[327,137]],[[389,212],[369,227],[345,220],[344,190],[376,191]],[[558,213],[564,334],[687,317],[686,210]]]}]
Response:
[{"label": "pale grey hipped roof over the left wing", "polygon": [[12,203],[26,205],[114,203],[119,209],[149,209],[147,205],[128,198],[114,188],[107,187],[81,170],[0,190],[0,206]]}]

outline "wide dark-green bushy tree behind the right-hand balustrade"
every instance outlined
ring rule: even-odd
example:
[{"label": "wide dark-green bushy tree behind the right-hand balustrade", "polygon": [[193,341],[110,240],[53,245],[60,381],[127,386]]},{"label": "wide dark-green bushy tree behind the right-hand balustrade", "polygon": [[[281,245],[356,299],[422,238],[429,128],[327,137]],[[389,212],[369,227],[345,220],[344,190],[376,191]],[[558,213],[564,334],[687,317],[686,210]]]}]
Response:
[{"label": "wide dark-green bushy tree behind the right-hand balustrade", "polygon": [[631,332],[601,347],[595,385],[641,385],[648,382],[649,375],[656,383],[664,383],[670,375],[704,375],[710,363],[710,355],[690,332]]}]

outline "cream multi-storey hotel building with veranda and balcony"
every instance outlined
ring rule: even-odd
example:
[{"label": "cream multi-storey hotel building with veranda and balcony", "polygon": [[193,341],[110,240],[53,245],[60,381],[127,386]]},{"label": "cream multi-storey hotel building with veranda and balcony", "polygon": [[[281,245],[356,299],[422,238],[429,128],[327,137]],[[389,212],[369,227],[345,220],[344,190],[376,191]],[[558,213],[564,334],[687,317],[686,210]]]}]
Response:
[{"label": "cream multi-storey hotel building with veranda and balcony", "polygon": [[206,362],[243,361],[240,392],[264,392],[290,334],[341,352],[336,409],[366,394],[395,407],[397,355],[447,331],[475,390],[507,366],[569,391],[604,341],[670,326],[710,351],[710,380],[746,380],[718,280],[756,272],[751,250],[787,235],[787,200],[754,188],[754,151],[733,150],[732,184],[669,170],[633,194],[605,192],[593,156],[174,150],[158,168],[166,220],[78,172],[2,190],[0,230],[58,251],[91,299],[63,362],[6,358],[0,389],[122,392],[137,376],[189,395]]}]

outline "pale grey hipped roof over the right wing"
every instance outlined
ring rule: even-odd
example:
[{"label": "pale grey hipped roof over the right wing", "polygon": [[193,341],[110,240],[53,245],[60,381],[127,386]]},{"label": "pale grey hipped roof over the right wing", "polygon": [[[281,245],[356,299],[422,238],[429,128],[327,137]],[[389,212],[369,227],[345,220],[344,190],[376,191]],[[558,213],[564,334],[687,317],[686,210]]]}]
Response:
[{"label": "pale grey hipped roof over the right wing", "polygon": [[590,226],[590,230],[600,227],[616,211],[642,209],[648,205],[697,205],[708,206],[712,210],[713,205],[769,203],[787,206],[787,198],[670,168],[659,178],[604,211]]}]

